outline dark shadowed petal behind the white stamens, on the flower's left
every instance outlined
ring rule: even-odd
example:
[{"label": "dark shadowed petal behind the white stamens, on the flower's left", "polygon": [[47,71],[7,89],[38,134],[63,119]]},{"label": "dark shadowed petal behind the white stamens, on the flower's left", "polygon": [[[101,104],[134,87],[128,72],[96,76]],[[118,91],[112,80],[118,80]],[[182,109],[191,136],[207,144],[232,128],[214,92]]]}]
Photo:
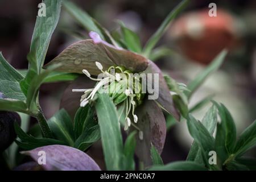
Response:
[{"label": "dark shadowed petal behind the white stamens, on the flower's left", "polygon": [[80,99],[83,92],[72,92],[72,89],[89,89],[95,86],[96,82],[90,80],[86,76],[80,76],[76,78],[76,80],[72,81],[70,85],[68,85],[67,89],[65,89],[61,101],[60,101],[60,109],[64,108],[71,118],[75,117],[77,109],[80,107]]}]

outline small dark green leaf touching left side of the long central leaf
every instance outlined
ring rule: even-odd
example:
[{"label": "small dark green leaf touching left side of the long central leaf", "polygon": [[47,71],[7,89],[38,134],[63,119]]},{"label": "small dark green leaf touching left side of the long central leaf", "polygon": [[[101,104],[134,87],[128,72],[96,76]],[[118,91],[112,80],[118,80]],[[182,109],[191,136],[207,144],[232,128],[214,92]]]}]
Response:
[{"label": "small dark green leaf touching left side of the long central leaf", "polygon": [[81,151],[85,151],[90,147],[94,142],[97,142],[101,138],[100,127],[95,125],[88,129],[85,129],[84,132],[77,138],[74,147],[78,148]]}]

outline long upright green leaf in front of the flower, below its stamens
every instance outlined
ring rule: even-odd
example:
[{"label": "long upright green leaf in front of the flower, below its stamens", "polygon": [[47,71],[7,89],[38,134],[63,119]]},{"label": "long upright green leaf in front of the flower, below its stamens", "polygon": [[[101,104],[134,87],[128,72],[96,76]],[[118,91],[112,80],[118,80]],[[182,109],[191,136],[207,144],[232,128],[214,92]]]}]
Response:
[{"label": "long upright green leaf in front of the flower, below its stamens", "polygon": [[108,170],[121,169],[123,143],[117,110],[108,94],[105,93],[98,94],[95,107],[100,125],[106,168]]}]

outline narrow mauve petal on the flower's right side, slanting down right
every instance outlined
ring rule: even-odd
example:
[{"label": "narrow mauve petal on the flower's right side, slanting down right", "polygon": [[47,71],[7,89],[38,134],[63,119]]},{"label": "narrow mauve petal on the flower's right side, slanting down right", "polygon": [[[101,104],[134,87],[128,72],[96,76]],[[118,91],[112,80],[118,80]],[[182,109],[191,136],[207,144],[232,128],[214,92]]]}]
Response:
[{"label": "narrow mauve petal on the flower's right side, slanting down right", "polygon": [[[153,63],[152,61],[149,61],[149,65],[144,72],[145,73],[159,73],[159,90],[157,90],[157,89],[155,90],[155,92],[158,92],[159,97],[155,101],[159,104],[160,107],[162,107],[162,109],[164,109],[168,113],[172,114],[177,119],[177,121],[179,121],[180,114],[174,107],[174,102],[172,101],[170,91],[168,89],[166,81],[164,80],[162,72],[160,71],[158,66],[155,65],[155,63]],[[154,76],[152,77],[152,82],[154,82]]]}]

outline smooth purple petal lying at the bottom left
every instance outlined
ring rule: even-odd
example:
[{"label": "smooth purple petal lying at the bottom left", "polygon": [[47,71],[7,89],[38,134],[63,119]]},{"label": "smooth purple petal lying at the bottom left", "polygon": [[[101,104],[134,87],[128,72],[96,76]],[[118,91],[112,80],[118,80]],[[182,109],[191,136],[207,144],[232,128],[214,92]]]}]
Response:
[{"label": "smooth purple petal lying at the bottom left", "polygon": [[[100,171],[98,164],[89,155],[69,146],[51,145],[38,147],[30,151],[23,151],[22,154],[31,156],[36,162],[40,161],[44,151],[46,154],[46,164],[41,166],[47,170],[60,171]],[[40,154],[40,155],[39,155]]]}]

